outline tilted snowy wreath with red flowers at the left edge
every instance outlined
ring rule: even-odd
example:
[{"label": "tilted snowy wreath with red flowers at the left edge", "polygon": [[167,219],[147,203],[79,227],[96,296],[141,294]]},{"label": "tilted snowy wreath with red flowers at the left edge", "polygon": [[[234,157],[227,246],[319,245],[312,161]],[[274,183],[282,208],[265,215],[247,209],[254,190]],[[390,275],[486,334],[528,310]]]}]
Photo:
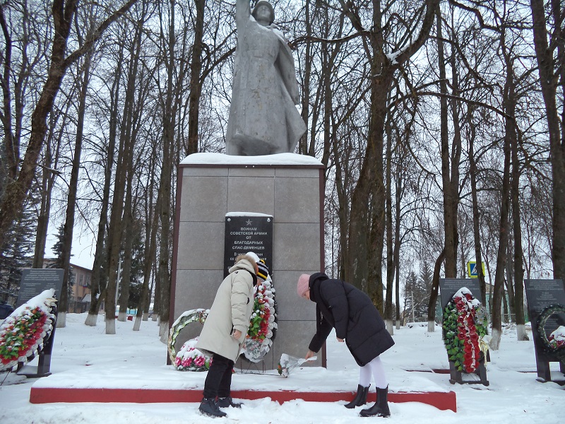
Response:
[{"label": "tilted snowy wreath with red flowers at the left edge", "polygon": [[0,326],[0,372],[35,358],[54,328],[55,290],[44,290],[18,307]]}]

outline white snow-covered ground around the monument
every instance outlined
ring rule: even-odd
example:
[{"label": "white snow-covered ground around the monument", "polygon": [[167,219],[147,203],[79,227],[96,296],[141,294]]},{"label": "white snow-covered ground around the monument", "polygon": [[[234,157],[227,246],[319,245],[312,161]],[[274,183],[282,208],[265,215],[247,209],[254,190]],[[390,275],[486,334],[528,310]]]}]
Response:
[{"label": "white snow-covered ground around the monument", "polygon": [[[270,399],[244,401],[241,409],[227,409],[227,418],[208,418],[196,403],[171,404],[30,404],[32,384],[74,387],[88,376],[89,387],[203,387],[206,373],[178,372],[165,364],[166,346],[157,337],[157,323],[117,322],[117,334],[106,335],[104,318],[96,327],[85,326],[85,314],[67,314],[66,327],[57,329],[51,361],[52,376],[25,379],[0,374],[1,424],[190,424],[190,423],[367,423],[384,418],[361,418],[361,408],[349,410],[344,401],[316,403],[301,400],[283,404]],[[448,369],[441,327],[428,333],[425,326],[404,327],[393,336],[396,345],[381,355],[390,391],[455,391],[458,412],[439,411],[419,403],[391,403],[386,423],[453,424],[488,421],[496,424],[563,423],[565,387],[536,381],[533,341],[516,341],[516,330],[504,331],[499,351],[491,351],[487,366],[490,385],[449,383],[449,375],[429,372]],[[531,336],[530,336],[531,338]],[[304,340],[304,354],[309,341]],[[565,378],[552,363],[554,378]],[[278,375],[233,377],[232,389],[249,385],[318,391],[354,390],[358,367],[344,343],[328,338],[328,369],[303,367],[288,378]],[[51,380],[49,380],[51,379]],[[51,382],[50,382],[51,381]]]}]

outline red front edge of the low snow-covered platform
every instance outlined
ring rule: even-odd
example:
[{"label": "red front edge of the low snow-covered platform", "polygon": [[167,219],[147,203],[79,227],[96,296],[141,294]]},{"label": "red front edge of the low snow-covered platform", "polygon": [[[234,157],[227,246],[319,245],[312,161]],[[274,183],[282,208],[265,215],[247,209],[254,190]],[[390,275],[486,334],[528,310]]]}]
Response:
[{"label": "red front edge of the low snow-covered platform", "polygon": [[[337,402],[351,401],[354,393],[347,391],[257,391],[257,390],[232,390],[232,397],[235,399],[262,399],[270,397],[279,403],[302,399],[309,402]],[[73,388],[54,388],[54,387],[32,387],[30,392],[30,402],[32,404],[50,404],[54,402],[118,402],[134,404],[160,404],[175,402],[199,402],[202,399],[201,390],[182,390],[182,389],[73,389]],[[376,394],[369,393],[367,402],[376,401]],[[400,402],[420,402],[435,406],[441,411],[451,410],[457,412],[457,399],[454,391],[433,391],[433,392],[400,392],[388,393],[388,401],[393,403]]]}]

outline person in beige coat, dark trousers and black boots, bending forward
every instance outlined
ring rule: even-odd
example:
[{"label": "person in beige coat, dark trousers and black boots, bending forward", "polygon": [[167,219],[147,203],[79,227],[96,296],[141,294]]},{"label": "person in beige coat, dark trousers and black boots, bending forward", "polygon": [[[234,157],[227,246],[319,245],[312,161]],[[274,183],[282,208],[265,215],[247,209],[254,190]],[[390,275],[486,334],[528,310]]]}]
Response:
[{"label": "person in beige coat, dark trousers and black boots, bending forward", "polygon": [[[253,310],[257,264],[249,255],[239,255],[230,274],[222,281],[196,348],[212,355],[212,365],[204,383],[203,399],[198,408],[208,416],[223,417],[220,406],[239,407],[232,402],[232,369],[249,329]],[[216,402],[218,396],[218,402]]]}]

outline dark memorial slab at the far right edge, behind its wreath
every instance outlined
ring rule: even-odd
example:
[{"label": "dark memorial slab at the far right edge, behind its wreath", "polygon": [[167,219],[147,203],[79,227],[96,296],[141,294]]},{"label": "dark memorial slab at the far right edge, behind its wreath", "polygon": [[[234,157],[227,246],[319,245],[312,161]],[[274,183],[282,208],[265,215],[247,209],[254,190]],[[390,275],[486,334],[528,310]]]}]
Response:
[{"label": "dark memorial slab at the far right edge, behind its wreath", "polygon": [[[537,331],[537,320],[546,307],[565,305],[564,284],[562,280],[524,280],[524,286],[534,337],[537,375],[545,381],[551,381],[549,362],[558,362],[559,358],[545,351],[540,332]],[[561,325],[565,325],[565,314],[554,314],[545,323],[545,333],[549,336]],[[561,370],[565,371],[563,365]]]}]

